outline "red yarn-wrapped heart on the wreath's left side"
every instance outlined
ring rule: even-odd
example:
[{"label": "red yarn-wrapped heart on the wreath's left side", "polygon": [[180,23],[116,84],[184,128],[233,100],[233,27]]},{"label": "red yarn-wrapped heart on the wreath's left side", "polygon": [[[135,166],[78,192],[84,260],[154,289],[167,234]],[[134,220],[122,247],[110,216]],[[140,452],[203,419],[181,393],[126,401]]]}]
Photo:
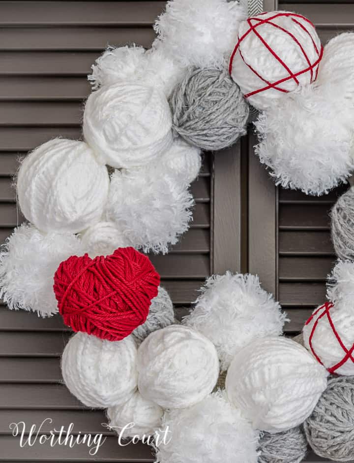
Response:
[{"label": "red yarn-wrapped heart on the wreath's left side", "polygon": [[130,247],[107,257],[69,257],[54,276],[65,325],[109,341],[123,339],[146,321],[159,284],[148,257]]}]

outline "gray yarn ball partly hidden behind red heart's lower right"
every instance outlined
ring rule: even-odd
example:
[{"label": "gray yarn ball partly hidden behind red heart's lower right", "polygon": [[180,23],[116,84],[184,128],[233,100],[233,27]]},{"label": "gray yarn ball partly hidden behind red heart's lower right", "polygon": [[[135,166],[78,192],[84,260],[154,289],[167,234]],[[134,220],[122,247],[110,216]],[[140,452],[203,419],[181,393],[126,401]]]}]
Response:
[{"label": "gray yarn ball partly hidden behind red heart's lower right", "polygon": [[136,328],[132,334],[138,343],[152,333],[152,331],[160,330],[175,322],[175,312],[172,300],[168,292],[159,286],[156,298],[153,298],[149,308],[148,318],[143,325]]}]

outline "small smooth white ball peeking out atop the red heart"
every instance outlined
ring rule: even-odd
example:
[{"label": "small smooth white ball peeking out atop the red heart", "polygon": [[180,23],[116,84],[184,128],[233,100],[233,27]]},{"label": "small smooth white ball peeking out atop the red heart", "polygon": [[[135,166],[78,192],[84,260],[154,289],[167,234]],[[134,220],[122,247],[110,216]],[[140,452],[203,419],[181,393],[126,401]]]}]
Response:
[{"label": "small smooth white ball peeking out atop the red heart", "polygon": [[128,238],[113,222],[92,225],[82,234],[81,242],[92,259],[96,256],[108,256],[118,248],[130,246]]}]

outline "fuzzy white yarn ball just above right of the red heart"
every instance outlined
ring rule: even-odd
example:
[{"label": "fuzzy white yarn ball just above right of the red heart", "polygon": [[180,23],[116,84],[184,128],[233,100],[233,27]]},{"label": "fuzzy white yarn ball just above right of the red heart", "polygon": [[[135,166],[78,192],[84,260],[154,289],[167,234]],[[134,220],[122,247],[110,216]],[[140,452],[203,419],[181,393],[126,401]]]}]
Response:
[{"label": "fuzzy white yarn ball just above right of the red heart", "polygon": [[111,176],[107,217],[144,252],[166,253],[186,232],[193,198],[163,165],[116,170]]}]

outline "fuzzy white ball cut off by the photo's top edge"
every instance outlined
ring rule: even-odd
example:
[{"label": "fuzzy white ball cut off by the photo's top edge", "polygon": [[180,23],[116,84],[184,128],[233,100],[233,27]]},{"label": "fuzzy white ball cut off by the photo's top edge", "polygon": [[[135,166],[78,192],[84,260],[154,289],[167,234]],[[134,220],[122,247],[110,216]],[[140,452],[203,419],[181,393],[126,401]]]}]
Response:
[{"label": "fuzzy white ball cut off by the photo's top edge", "polygon": [[171,0],[155,23],[161,47],[183,66],[223,68],[235,45],[244,1]]}]

